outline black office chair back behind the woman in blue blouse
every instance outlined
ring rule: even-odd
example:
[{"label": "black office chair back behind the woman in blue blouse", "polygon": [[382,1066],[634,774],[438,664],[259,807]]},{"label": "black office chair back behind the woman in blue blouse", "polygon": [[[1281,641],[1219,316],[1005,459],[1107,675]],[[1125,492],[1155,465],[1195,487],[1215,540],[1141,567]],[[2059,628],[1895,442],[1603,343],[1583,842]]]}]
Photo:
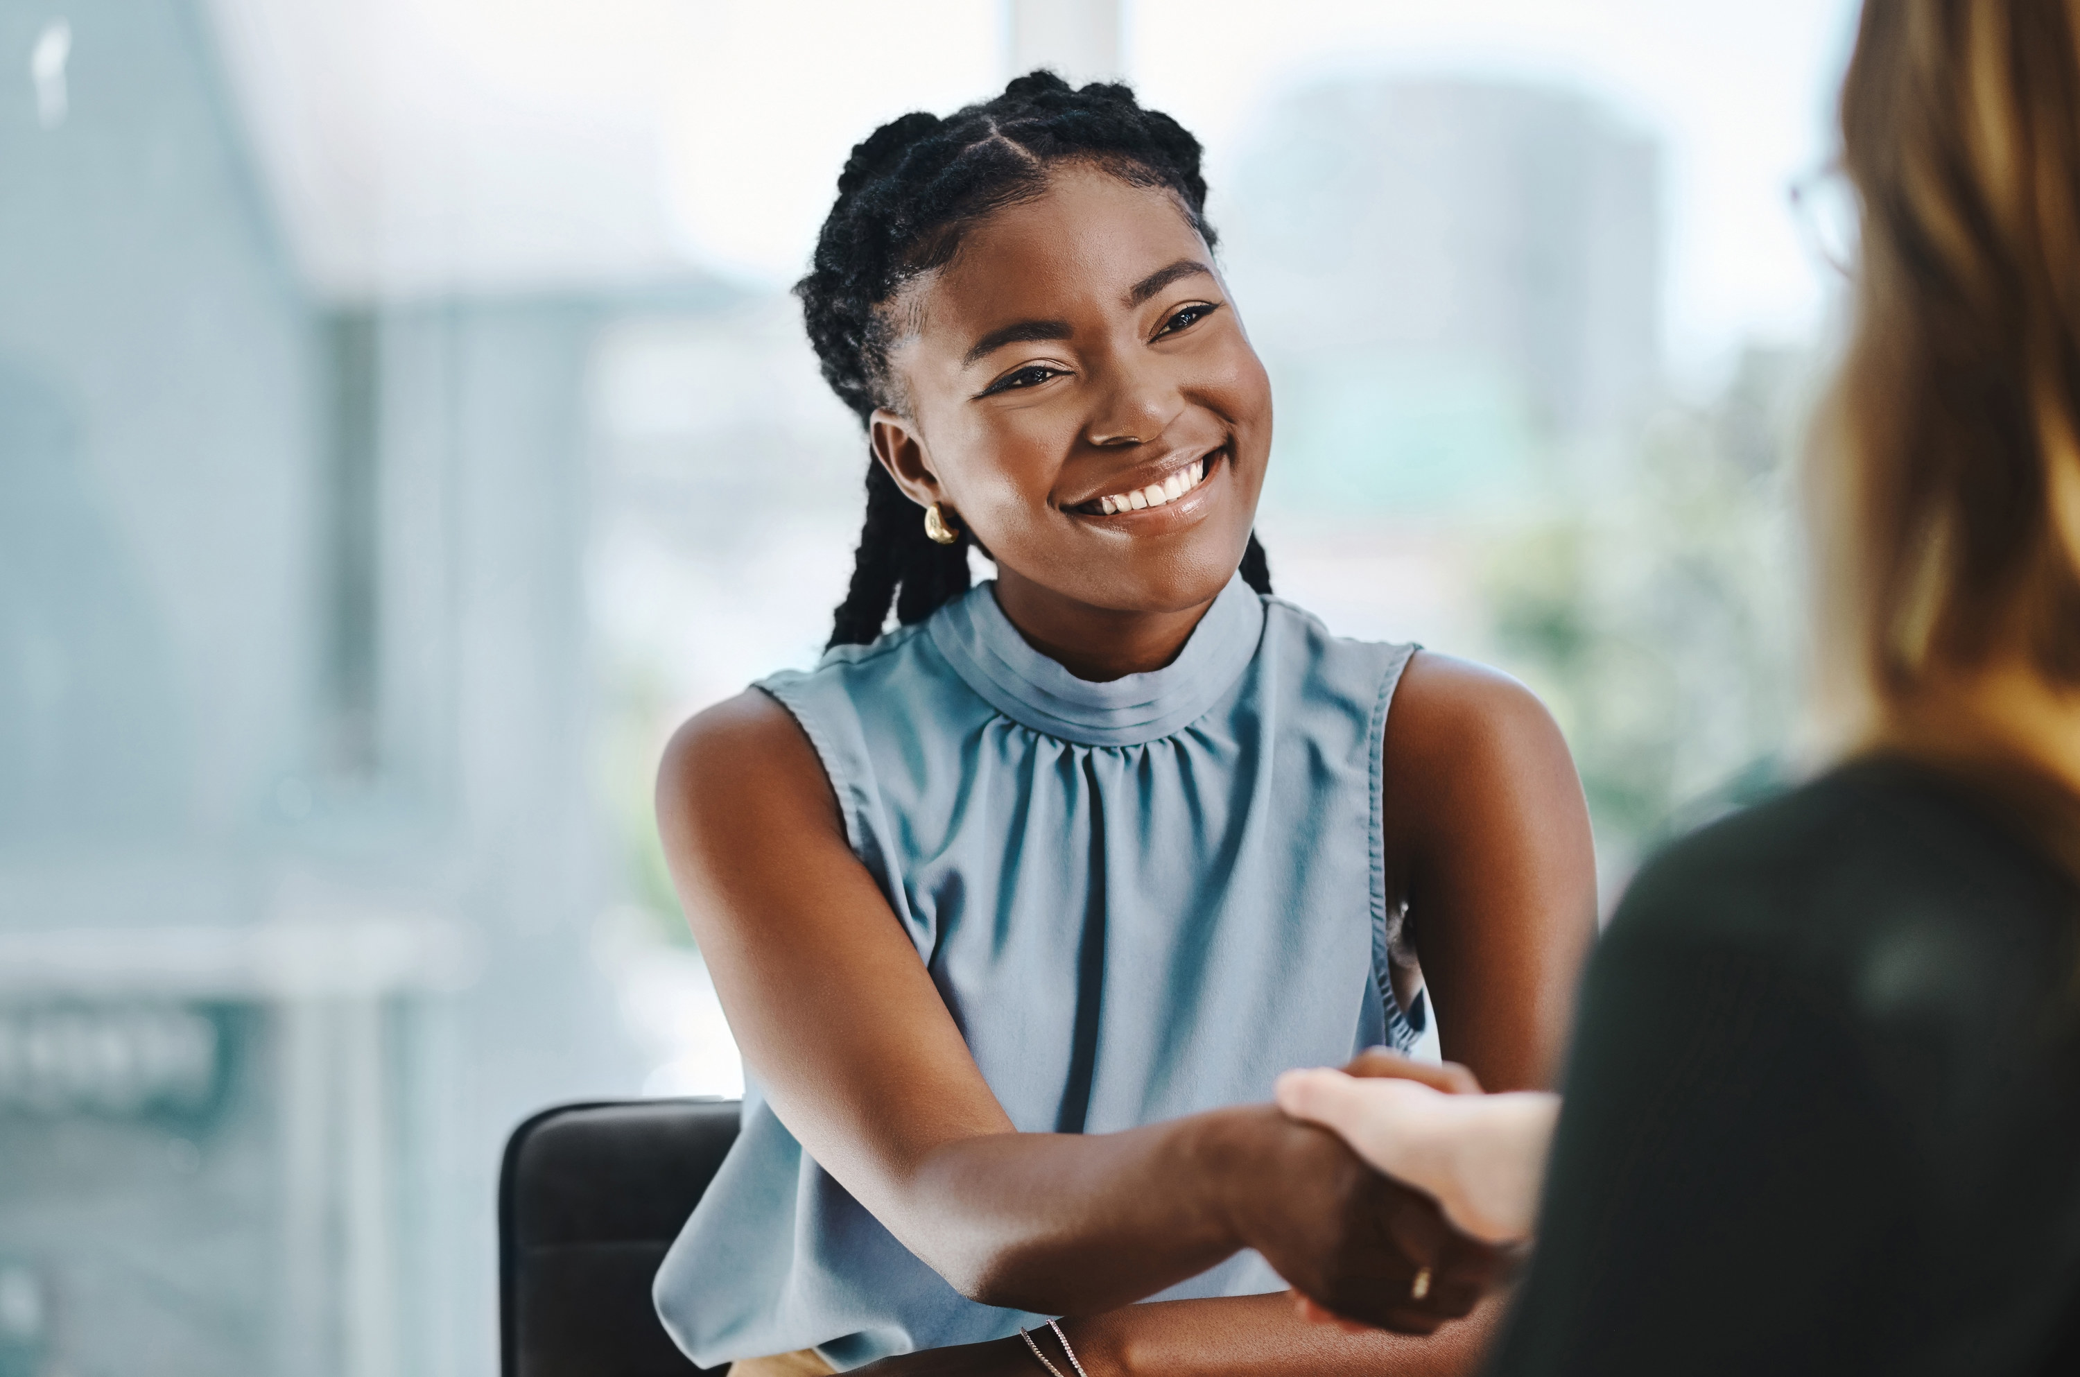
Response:
[{"label": "black office chair back behind the woman in blue blouse", "polygon": [[503,1377],[691,1377],[651,1277],[736,1140],[736,1100],[545,1109],[499,1171]]}]

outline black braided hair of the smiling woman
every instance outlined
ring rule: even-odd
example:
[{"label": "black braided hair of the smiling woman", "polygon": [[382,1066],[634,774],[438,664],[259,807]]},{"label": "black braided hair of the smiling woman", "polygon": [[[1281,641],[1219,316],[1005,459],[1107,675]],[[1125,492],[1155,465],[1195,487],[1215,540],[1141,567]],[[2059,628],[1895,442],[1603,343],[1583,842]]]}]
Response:
[{"label": "black braided hair of the smiling woman", "polygon": [[[948,119],[905,114],[853,148],[795,295],[824,381],[861,422],[876,408],[903,406],[888,372],[888,302],[911,279],[944,266],[967,227],[1044,193],[1048,164],[1071,158],[1094,160],[1134,185],[1175,191],[1198,233],[1215,241],[1198,139],[1169,114],[1144,110],[1125,85],[1071,89],[1055,73],[1036,71]],[[907,626],[965,593],[971,543],[965,530],[953,545],[934,543],[915,503],[869,458],[867,522],[830,645],[874,641],[890,603]],[[1258,593],[1271,591],[1254,535],[1242,578]]]}]

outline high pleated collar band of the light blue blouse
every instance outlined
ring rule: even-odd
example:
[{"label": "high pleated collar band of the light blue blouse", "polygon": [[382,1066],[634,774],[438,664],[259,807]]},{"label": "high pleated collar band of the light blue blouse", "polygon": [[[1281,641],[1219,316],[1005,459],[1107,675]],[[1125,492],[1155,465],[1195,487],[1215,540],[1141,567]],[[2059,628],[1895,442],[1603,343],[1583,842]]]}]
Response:
[{"label": "high pleated collar band of the light blue blouse", "polygon": [[1028,645],[996,605],[994,582],[940,607],[928,628],[967,686],[1013,722],[1077,745],[1134,747],[1190,726],[1221,701],[1256,655],[1265,603],[1236,574],[1177,659],[1102,684]]}]

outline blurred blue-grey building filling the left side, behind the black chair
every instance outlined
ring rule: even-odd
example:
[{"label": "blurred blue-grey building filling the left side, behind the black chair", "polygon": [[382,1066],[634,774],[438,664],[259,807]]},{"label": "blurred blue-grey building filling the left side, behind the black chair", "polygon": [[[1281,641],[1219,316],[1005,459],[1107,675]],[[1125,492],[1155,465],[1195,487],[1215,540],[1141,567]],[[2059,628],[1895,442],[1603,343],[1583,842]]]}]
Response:
[{"label": "blurred blue-grey building filling the left side, behind the black chair", "polygon": [[591,955],[622,304],[314,289],[214,40],[0,6],[0,1371],[487,1371],[505,1127],[645,1069]]}]

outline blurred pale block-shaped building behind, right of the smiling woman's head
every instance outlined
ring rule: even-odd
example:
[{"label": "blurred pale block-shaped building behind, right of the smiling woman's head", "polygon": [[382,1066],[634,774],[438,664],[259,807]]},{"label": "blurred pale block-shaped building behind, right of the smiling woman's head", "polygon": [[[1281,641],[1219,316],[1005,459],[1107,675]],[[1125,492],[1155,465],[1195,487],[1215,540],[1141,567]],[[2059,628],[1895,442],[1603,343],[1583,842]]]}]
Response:
[{"label": "blurred pale block-shaped building behind, right of the smiling woman's head", "polygon": [[1568,92],[1373,77],[1273,106],[1227,233],[1275,499],[1525,505],[1545,453],[1616,439],[1660,385],[1660,191],[1654,141]]}]

